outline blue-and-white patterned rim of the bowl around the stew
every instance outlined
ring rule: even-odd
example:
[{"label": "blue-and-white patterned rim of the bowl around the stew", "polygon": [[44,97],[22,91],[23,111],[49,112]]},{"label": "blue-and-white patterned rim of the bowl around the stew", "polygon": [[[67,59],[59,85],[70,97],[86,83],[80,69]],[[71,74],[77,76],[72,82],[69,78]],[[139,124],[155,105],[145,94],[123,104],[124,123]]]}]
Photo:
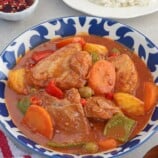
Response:
[{"label": "blue-and-white patterned rim of the bowl around the stew", "polygon": [[54,37],[66,37],[82,32],[102,37],[110,37],[134,50],[147,64],[154,76],[155,83],[158,82],[158,48],[143,34],[119,22],[99,17],[65,17],[46,21],[19,35],[0,54],[0,123],[9,133],[10,137],[20,145],[32,149],[46,157],[118,157],[137,148],[158,130],[158,107],[156,107],[145,129],[134,139],[109,152],[78,156],[49,151],[27,138],[17,129],[7,111],[4,93],[8,72],[16,64],[16,59],[25,55],[27,50],[49,41]]}]

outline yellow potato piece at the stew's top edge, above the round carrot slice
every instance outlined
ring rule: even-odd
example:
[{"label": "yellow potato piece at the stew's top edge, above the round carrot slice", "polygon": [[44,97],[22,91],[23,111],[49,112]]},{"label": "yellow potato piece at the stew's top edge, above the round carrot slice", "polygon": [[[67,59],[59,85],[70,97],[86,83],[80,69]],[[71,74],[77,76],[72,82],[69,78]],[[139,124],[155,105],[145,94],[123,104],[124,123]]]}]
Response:
[{"label": "yellow potato piece at the stew's top edge, above the round carrot slice", "polygon": [[98,53],[105,56],[108,54],[108,49],[105,46],[93,43],[86,43],[83,50],[89,53]]}]

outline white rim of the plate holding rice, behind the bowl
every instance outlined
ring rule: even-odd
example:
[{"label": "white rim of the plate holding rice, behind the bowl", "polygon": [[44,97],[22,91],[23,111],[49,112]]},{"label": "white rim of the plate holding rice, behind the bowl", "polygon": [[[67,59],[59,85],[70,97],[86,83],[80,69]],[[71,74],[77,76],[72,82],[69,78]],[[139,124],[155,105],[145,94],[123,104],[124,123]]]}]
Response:
[{"label": "white rim of the plate holding rice, behind the bowl", "polygon": [[107,8],[104,6],[99,6],[93,4],[88,0],[63,0],[68,6],[78,11],[87,13],[89,15],[108,17],[108,18],[118,18],[127,19],[139,17],[147,14],[154,13],[158,11],[158,0],[151,0],[148,6],[134,6],[125,8]]}]

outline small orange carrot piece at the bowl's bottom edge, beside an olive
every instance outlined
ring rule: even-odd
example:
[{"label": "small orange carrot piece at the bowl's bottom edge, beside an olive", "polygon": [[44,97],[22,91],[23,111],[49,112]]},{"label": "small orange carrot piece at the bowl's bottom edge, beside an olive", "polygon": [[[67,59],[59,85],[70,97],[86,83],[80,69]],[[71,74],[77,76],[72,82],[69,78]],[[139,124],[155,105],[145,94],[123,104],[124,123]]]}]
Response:
[{"label": "small orange carrot piece at the bowl's bottom edge, beside an olive", "polygon": [[104,150],[113,149],[117,147],[117,141],[113,138],[101,139],[98,145]]}]

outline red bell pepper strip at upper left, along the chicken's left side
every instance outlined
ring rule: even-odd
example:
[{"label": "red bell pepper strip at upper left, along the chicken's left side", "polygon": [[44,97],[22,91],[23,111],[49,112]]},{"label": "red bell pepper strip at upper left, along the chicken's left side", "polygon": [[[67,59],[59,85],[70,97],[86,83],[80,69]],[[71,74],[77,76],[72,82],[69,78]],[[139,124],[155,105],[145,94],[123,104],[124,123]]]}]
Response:
[{"label": "red bell pepper strip at upper left, along the chicken's left side", "polygon": [[32,59],[35,62],[39,62],[40,60],[46,58],[47,56],[51,55],[52,53],[53,53],[52,50],[43,50],[43,51],[40,51],[40,52],[35,52],[32,55]]}]

